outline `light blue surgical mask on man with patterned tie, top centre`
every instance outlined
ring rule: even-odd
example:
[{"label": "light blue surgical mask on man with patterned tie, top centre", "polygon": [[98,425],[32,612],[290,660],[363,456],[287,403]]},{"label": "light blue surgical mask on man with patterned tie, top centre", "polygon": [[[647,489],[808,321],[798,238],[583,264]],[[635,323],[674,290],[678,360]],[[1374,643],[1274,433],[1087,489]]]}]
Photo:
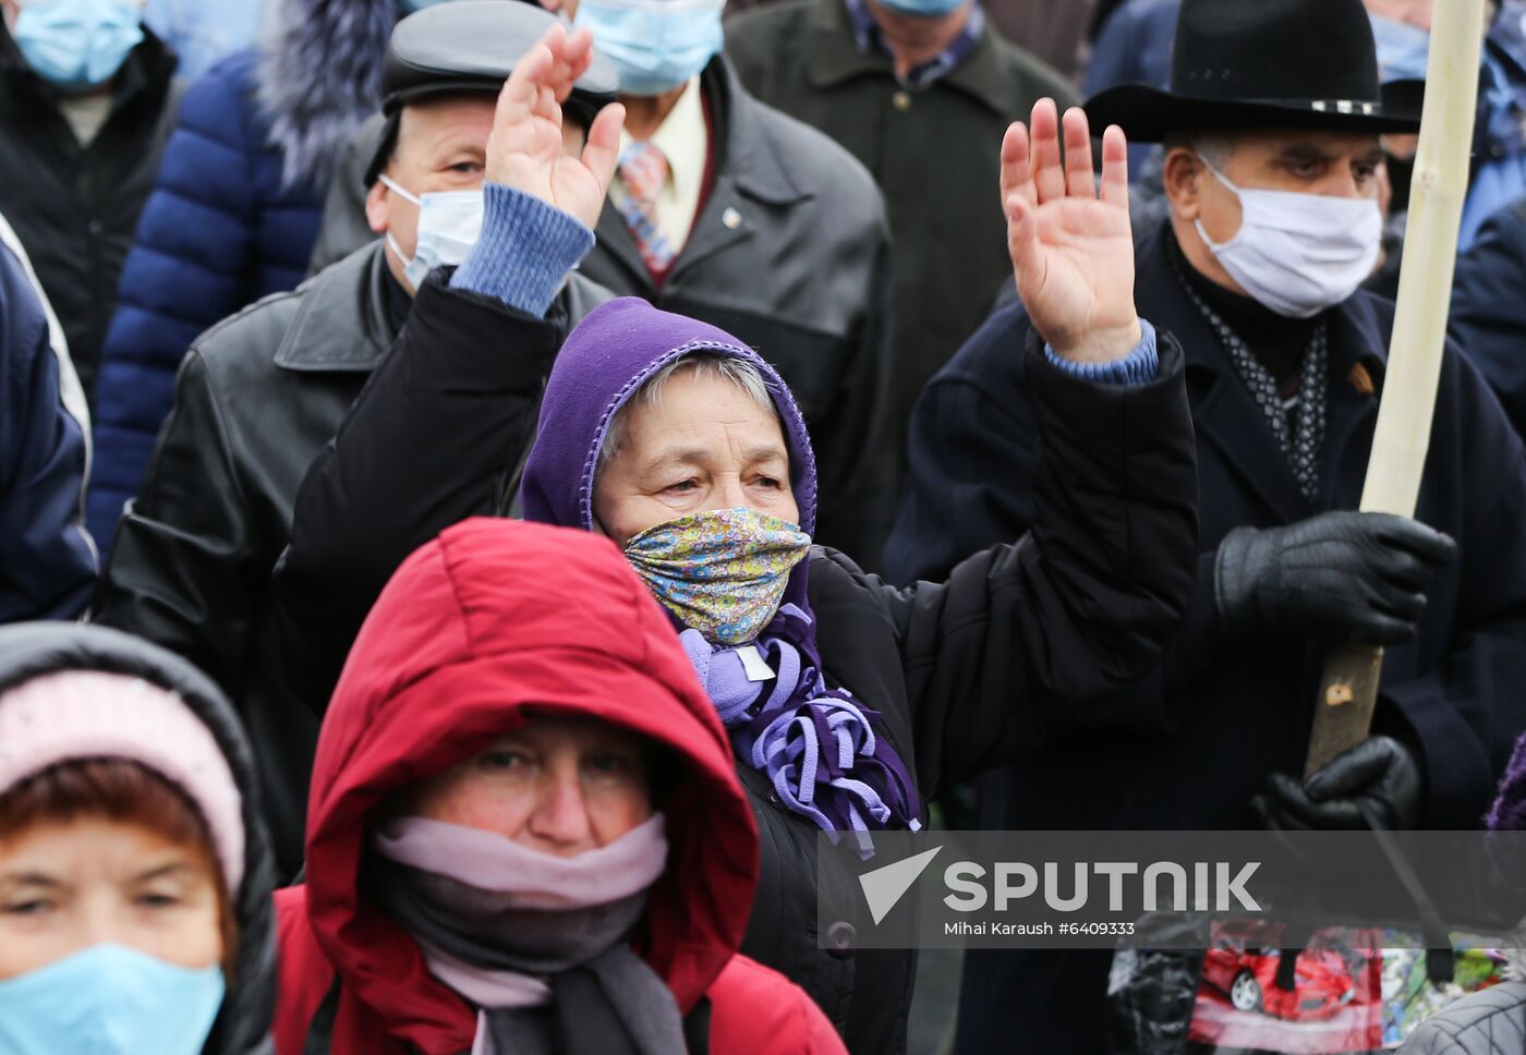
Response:
[{"label": "light blue surgical mask on man with patterned tie, top centre", "polygon": [[574,26],[620,75],[623,95],[670,92],[705,69],[720,50],[723,0],[581,0]]}]

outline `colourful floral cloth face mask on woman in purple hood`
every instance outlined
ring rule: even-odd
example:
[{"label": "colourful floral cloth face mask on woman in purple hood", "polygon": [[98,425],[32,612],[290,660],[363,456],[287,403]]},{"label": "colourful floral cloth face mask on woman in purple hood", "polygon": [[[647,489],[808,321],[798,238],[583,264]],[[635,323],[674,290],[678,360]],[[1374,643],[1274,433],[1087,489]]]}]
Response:
[{"label": "colourful floral cloth face mask on woman in purple hood", "polygon": [[810,536],[751,508],[708,510],[647,528],[626,559],[662,606],[714,644],[746,644],[774,618]]}]

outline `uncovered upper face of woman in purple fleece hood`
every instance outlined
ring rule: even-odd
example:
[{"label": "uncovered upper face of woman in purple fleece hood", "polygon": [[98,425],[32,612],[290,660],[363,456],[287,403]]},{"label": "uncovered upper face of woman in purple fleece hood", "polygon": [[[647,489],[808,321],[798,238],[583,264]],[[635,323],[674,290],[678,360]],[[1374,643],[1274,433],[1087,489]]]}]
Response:
[{"label": "uncovered upper face of woman in purple fleece hood", "polygon": [[754,508],[800,524],[778,418],[713,374],[679,373],[627,405],[624,441],[594,481],[594,518],[624,547],[690,513]]}]

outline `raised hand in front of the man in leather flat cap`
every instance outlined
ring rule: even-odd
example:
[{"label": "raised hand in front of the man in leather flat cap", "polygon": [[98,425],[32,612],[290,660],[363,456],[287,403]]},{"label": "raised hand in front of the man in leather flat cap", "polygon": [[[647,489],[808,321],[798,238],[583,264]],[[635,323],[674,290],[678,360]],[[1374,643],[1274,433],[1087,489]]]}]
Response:
[{"label": "raised hand in front of the man in leather flat cap", "polygon": [[514,66],[504,82],[487,140],[490,183],[511,186],[571,214],[584,227],[598,223],[620,160],[626,108],[613,102],[594,119],[581,157],[562,150],[562,104],[594,61],[594,35],[568,35],[560,24]]}]

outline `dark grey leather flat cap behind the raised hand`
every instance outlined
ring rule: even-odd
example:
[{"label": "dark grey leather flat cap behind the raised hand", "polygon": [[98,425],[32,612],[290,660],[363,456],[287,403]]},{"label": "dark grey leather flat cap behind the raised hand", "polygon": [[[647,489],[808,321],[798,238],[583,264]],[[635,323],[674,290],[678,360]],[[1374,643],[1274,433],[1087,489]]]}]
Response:
[{"label": "dark grey leather flat cap behind the raised hand", "polygon": [[[397,116],[410,102],[429,96],[482,93],[497,96],[514,63],[557,24],[557,17],[534,3],[514,0],[455,0],[403,18],[382,66],[382,111],[388,125],[366,171],[375,182],[397,142]],[[620,76],[613,63],[594,53],[588,72],[563,104],[568,118],[584,128],[615,101]]]}]

